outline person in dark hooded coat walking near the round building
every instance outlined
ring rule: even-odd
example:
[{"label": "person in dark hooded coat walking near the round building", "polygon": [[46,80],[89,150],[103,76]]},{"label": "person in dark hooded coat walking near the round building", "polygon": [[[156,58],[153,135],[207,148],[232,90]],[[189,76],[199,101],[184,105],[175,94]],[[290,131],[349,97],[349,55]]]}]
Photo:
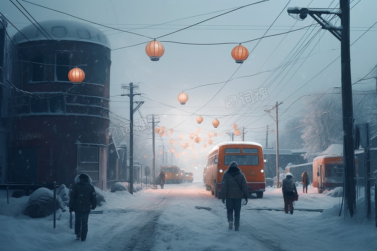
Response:
[{"label": "person in dark hooded coat walking near the round building", "polygon": [[88,233],[88,218],[90,209],[97,207],[97,199],[92,179],[86,173],[75,178],[75,185],[70,192],[69,212],[75,212],[76,240],[84,241]]}]

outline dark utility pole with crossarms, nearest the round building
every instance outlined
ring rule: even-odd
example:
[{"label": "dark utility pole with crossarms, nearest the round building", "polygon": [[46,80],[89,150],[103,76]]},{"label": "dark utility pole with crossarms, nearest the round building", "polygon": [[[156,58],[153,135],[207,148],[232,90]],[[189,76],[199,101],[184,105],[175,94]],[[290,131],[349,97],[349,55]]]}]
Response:
[{"label": "dark utility pole with crossarms, nearest the round building", "polygon": [[141,95],[141,93],[133,93],[134,89],[138,89],[139,85],[133,85],[131,82],[129,85],[122,84],[121,88],[124,90],[129,90],[129,94],[121,94],[120,96],[129,96],[130,97],[130,175],[129,175],[129,190],[130,194],[133,194],[133,113],[144,103],[144,101],[135,101],[137,106],[133,108],[133,96]]}]

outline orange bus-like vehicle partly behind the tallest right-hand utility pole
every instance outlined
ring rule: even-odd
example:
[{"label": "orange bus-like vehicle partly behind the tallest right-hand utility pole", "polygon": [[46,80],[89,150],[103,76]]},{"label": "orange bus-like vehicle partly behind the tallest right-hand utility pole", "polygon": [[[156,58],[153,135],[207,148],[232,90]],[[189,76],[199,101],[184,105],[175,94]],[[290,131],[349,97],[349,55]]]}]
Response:
[{"label": "orange bus-like vehicle partly behind the tallest right-hand utility pole", "polygon": [[[357,158],[355,157],[357,170]],[[313,160],[313,187],[322,193],[326,189],[343,186],[343,155],[320,155]]]}]

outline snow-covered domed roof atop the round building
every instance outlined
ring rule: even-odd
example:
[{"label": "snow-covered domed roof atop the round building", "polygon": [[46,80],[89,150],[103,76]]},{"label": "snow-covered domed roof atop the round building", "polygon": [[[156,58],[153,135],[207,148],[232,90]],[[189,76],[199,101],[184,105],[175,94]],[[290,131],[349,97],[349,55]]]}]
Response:
[{"label": "snow-covered domed roof atop the round building", "polygon": [[[93,27],[89,24],[80,23],[72,20],[46,20],[38,22],[38,24],[30,24],[23,28],[20,32],[14,35],[14,40],[17,44],[30,41],[51,40],[72,40],[72,41],[85,41],[95,44],[101,44],[110,48],[110,42],[100,29]],[[22,35],[22,34],[23,35]],[[46,35],[46,37],[44,35]],[[25,37],[28,39],[26,39]]]}]

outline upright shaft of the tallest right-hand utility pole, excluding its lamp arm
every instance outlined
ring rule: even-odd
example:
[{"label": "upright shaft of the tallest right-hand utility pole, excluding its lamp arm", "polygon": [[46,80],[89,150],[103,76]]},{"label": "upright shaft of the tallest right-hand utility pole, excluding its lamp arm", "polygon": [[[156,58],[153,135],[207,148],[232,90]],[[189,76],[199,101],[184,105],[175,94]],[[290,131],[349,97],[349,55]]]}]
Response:
[{"label": "upright shaft of the tallest right-hand utility pole, excluding its lamp arm", "polygon": [[343,112],[343,163],[345,174],[345,206],[351,217],[355,206],[355,156],[352,114],[351,56],[349,51],[349,0],[340,0],[342,12],[341,68],[342,68],[342,112]]}]

